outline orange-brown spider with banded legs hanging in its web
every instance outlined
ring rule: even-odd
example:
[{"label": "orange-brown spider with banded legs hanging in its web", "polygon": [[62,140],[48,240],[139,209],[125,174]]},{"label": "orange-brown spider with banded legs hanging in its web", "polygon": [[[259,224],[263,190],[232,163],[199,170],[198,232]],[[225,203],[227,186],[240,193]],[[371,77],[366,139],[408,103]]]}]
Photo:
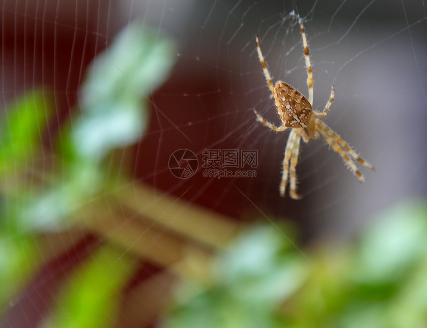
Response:
[{"label": "orange-brown spider with banded legs hanging in its web", "polygon": [[[352,148],[340,138],[340,136],[332,131],[325,123],[320,121],[318,118],[323,118],[328,114],[329,107],[331,107],[334,101],[334,86],[331,88],[331,95],[326,103],[322,112],[317,112],[312,109],[313,106],[313,71],[310,64],[310,56],[308,52],[307,38],[305,35],[304,25],[302,20],[299,20],[301,26],[302,43],[304,47],[305,65],[307,67],[307,85],[308,85],[308,100],[299,91],[291,87],[289,84],[283,81],[277,81],[273,87],[273,82],[270,77],[270,73],[267,69],[266,62],[261,53],[261,48],[256,36],[257,52],[258,57],[264,72],[264,76],[267,80],[267,85],[273,94],[277,113],[282,121],[280,127],[267,122],[260,116],[254,109],[255,115],[258,121],[266,127],[276,132],[285,131],[290,128],[289,138],[287,140],[285,156],[283,159],[283,173],[282,180],[280,183],[280,196],[285,196],[285,190],[290,175],[290,197],[293,199],[301,199],[302,196],[297,193],[297,176],[296,176],[296,164],[298,162],[299,154],[299,143],[302,137],[304,142],[308,142],[311,139],[319,138],[319,133],[325,139],[325,141],[336,151],[344,160],[348,168],[356,175],[360,182],[364,181],[363,174],[357,169],[356,164],[353,162],[355,159],[360,164],[375,170],[372,165],[367,163],[359,155],[356,154]],[[350,156],[350,157],[349,157]],[[290,164],[290,165],[289,165]]]}]

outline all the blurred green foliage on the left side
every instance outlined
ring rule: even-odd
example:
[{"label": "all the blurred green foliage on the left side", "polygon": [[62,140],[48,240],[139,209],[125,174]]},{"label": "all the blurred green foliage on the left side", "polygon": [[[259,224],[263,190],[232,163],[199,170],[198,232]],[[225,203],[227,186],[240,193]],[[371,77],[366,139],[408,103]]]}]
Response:
[{"label": "all the blurred green foliage on the left side", "polygon": [[[62,229],[85,204],[113,188],[107,175],[111,167],[103,159],[143,135],[148,97],[167,78],[173,49],[171,40],[136,22],[95,58],[80,90],[81,108],[60,127],[58,152],[48,154],[52,171],[34,164],[43,162],[41,141],[54,113],[44,94],[27,92],[5,110],[0,131],[1,307],[39,265],[37,233]],[[106,250],[92,259],[90,270],[75,277],[80,287],[71,285],[67,291],[55,327],[105,327],[115,292],[129,271],[125,258],[112,264],[117,258]]]}]

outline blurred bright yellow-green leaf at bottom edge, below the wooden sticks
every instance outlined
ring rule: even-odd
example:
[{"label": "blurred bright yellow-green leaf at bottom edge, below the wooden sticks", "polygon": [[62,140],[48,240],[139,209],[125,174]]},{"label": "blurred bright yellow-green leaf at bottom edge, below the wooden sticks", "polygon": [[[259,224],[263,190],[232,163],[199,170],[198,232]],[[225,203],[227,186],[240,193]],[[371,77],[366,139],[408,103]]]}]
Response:
[{"label": "blurred bright yellow-green leaf at bottom edge, below the wooden sticks", "polygon": [[133,270],[128,256],[109,245],[102,246],[64,282],[56,310],[45,327],[110,327],[118,311],[120,292]]}]

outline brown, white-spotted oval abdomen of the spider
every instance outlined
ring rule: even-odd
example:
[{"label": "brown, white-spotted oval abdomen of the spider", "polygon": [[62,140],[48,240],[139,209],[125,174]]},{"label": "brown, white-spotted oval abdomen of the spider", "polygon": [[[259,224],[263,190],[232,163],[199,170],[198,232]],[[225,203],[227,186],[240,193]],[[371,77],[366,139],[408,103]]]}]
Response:
[{"label": "brown, white-spotted oval abdomen of the spider", "polygon": [[283,81],[276,82],[273,95],[280,119],[286,127],[307,127],[312,114],[307,98]]}]

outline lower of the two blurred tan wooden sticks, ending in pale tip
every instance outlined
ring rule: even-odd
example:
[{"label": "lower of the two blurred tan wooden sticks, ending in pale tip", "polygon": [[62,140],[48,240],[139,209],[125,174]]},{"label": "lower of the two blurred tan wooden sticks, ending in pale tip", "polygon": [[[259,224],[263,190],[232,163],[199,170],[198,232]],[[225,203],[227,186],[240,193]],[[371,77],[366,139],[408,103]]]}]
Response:
[{"label": "lower of the two blurred tan wooden sticks, ending in pale tip", "polygon": [[150,227],[140,218],[128,218],[105,207],[91,206],[80,212],[78,229],[86,228],[126,253],[166,267],[180,277],[210,280],[212,250]]}]

